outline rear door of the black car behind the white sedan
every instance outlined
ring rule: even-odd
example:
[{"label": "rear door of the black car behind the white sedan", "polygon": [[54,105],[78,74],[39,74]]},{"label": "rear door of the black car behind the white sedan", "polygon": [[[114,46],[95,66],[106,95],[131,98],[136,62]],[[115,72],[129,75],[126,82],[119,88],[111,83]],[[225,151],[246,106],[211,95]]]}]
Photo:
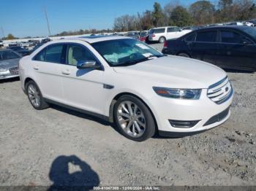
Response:
[{"label": "rear door of the black car behind the white sedan", "polygon": [[192,58],[216,64],[217,30],[198,31],[195,42],[189,44]]}]

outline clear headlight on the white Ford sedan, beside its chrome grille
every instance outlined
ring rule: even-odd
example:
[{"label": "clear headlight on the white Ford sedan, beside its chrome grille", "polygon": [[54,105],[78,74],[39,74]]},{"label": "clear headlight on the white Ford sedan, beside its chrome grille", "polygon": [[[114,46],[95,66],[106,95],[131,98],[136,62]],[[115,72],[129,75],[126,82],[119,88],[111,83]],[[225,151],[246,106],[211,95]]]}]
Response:
[{"label": "clear headlight on the white Ford sedan, beside its chrome grille", "polygon": [[167,87],[153,87],[153,90],[163,97],[180,99],[199,99],[200,89],[173,89]]}]

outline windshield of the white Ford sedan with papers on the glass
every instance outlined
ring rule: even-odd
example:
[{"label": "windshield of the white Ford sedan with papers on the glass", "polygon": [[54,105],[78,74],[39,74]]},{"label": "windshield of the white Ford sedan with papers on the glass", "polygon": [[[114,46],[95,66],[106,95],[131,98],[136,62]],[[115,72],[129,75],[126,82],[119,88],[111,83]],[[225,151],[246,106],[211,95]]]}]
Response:
[{"label": "windshield of the white Ford sedan with papers on the glass", "polygon": [[91,44],[110,66],[129,66],[163,54],[135,39],[116,39]]}]

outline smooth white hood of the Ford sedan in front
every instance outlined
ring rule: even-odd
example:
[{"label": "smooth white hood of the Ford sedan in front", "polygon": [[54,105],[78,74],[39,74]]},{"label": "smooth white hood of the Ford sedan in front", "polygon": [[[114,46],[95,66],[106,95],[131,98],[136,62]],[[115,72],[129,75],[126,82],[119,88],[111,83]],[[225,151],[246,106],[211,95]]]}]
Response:
[{"label": "smooth white hood of the Ford sedan in front", "polygon": [[140,82],[146,80],[154,86],[173,88],[208,88],[227,76],[225,71],[210,63],[178,56],[165,56],[113,69],[132,77],[136,75]]}]

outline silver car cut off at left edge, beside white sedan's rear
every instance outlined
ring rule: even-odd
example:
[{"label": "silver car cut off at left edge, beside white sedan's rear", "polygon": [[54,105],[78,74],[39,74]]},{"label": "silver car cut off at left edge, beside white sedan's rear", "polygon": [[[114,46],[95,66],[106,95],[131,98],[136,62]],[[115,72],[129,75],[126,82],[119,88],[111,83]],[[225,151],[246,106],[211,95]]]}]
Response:
[{"label": "silver car cut off at left edge, beside white sedan's rear", "polygon": [[18,66],[21,56],[8,49],[0,49],[0,79],[18,77]]}]

